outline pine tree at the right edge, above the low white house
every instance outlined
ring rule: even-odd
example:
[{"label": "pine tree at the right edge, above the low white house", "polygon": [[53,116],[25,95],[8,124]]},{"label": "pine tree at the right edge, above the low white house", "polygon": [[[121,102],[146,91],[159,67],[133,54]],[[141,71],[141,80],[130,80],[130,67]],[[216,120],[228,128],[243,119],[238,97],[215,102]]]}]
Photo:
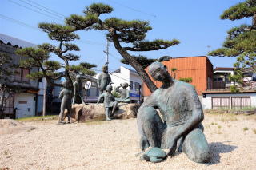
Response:
[{"label": "pine tree at the right edge, above the low white house", "polygon": [[[242,24],[227,31],[226,40],[222,48],[215,49],[208,53],[214,57],[237,57],[234,63],[238,74],[242,74],[244,69],[252,67],[255,73],[256,67],[256,1],[246,0],[240,2],[230,9],[225,10],[221,19],[230,19],[231,21],[252,17],[252,25]],[[239,69],[238,69],[239,68]]]}]

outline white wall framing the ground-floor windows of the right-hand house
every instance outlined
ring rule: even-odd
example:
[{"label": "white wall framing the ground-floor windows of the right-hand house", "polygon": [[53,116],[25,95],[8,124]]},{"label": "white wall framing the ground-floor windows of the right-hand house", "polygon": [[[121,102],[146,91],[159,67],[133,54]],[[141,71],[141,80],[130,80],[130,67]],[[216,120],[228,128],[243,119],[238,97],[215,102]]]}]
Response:
[{"label": "white wall framing the ground-floor windows of the right-hand house", "polygon": [[227,93],[227,94],[207,94],[206,98],[202,97],[202,109],[212,109],[212,97],[230,97],[230,109],[231,109],[231,97],[250,97],[250,106],[256,106],[256,93]]}]

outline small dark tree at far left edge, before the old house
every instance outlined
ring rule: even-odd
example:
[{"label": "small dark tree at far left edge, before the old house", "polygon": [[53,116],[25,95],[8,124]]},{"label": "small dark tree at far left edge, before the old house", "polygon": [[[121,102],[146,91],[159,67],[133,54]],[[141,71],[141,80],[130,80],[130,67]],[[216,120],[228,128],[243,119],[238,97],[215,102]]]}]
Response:
[{"label": "small dark tree at far left edge, before the old house", "polygon": [[10,87],[8,87],[8,84],[11,82],[10,77],[18,73],[14,69],[17,68],[18,65],[10,65],[11,60],[12,58],[10,57],[10,55],[6,53],[0,53],[0,119],[3,118],[3,112],[6,109],[6,101],[8,97],[10,97],[11,93],[15,93],[15,91],[18,91],[18,89],[11,89]]}]

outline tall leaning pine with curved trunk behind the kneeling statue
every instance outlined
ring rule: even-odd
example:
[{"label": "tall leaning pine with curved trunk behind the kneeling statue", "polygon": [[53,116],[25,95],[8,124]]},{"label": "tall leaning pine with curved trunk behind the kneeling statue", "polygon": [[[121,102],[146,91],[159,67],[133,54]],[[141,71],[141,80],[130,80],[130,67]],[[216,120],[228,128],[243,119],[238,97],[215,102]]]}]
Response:
[{"label": "tall leaning pine with curved trunk behind the kneeling statue", "polygon": [[[154,41],[147,41],[146,33],[152,30],[150,22],[141,20],[126,21],[120,18],[106,18],[102,21],[99,16],[101,14],[110,14],[114,9],[104,3],[93,3],[90,6],[86,6],[86,10],[83,10],[84,16],[78,14],[71,14],[69,18],[66,18],[66,25],[74,26],[75,30],[107,30],[106,38],[110,42],[114,43],[115,49],[124,58],[126,62],[134,67],[146,86],[151,92],[157,89],[154,82],[151,81],[149,75],[144,70],[145,67],[141,65],[141,57],[133,57],[127,51],[151,51],[166,49],[172,45],[178,45],[180,42],[177,39],[172,41],[166,41],[162,39],[156,39]],[[123,47],[120,43],[132,43],[133,46],[128,45]],[[141,60],[142,61],[142,60]],[[146,61],[146,60],[144,60]],[[147,61],[146,61],[147,62]]]}]

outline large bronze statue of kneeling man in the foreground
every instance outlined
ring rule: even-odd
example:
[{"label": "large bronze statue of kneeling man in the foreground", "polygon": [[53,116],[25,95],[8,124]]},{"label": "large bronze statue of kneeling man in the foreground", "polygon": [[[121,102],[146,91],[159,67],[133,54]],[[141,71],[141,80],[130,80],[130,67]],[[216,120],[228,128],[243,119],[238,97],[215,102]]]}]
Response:
[{"label": "large bronze statue of kneeling man in the foreground", "polygon": [[162,86],[138,109],[140,148],[169,148],[167,155],[174,156],[178,147],[178,152],[184,152],[190,160],[209,163],[210,148],[203,134],[204,114],[198,94],[193,85],[170,76],[161,63],[166,60],[169,59],[162,57],[149,67],[150,76],[161,81]]}]

